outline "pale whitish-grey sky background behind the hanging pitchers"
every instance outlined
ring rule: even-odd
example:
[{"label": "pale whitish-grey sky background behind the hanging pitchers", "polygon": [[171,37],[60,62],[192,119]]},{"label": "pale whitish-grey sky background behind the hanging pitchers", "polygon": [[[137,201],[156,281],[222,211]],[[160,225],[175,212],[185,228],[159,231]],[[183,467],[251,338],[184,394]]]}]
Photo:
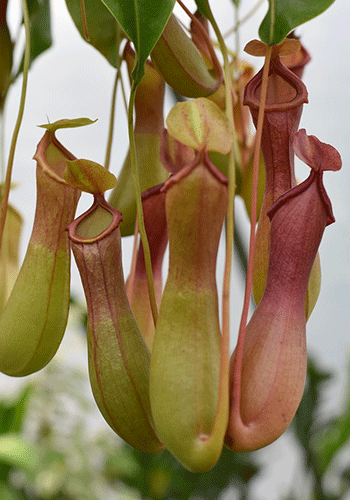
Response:
[{"label": "pale whitish-grey sky background behind the hanging pitchers", "polygon": [[[17,0],[10,0],[10,15],[16,26]],[[189,6],[193,3],[187,2]],[[232,25],[233,13],[229,0],[212,2],[218,24],[223,31]],[[244,15],[254,2],[242,0]],[[258,26],[264,16],[267,2],[241,30],[241,46],[258,37]],[[64,0],[52,2],[53,37],[52,49],[33,65],[29,75],[28,97],[15,156],[13,181],[19,187],[11,193],[11,202],[25,218],[22,238],[22,256],[30,236],[35,209],[35,163],[32,156],[42,136],[37,125],[61,118],[87,116],[98,122],[80,129],[59,131],[60,141],[77,157],[104,162],[109,122],[110,96],[114,69],[92,47],[83,42],[69,18]],[[335,383],[328,391],[325,408],[336,412],[345,390],[345,371],[350,365],[350,3],[336,0],[321,16],[301,26],[297,33],[302,36],[312,61],[307,66],[304,82],[308,87],[309,104],[304,106],[300,128],[316,135],[321,141],[336,147],[343,159],[340,172],[326,172],[324,183],[333,203],[336,223],[329,226],[320,247],[322,265],[321,295],[307,325],[309,353],[324,368],[335,371]],[[229,39],[229,43],[232,40]],[[248,57],[247,57],[248,58]],[[249,58],[248,58],[249,59]],[[261,59],[250,59],[257,69]],[[11,139],[17,116],[21,79],[10,91],[6,113],[6,144]],[[118,173],[127,151],[125,113],[120,100],[117,104],[116,127],[111,169]],[[297,175],[305,179],[309,168],[298,163]],[[88,195],[82,197],[79,213],[91,202]],[[221,264],[223,253],[220,254]],[[126,273],[130,262],[130,241],[125,243]],[[220,265],[221,265],[220,264]],[[219,265],[219,268],[220,268]],[[233,342],[241,308],[241,279],[237,272],[233,277]],[[78,273],[73,268],[72,291],[81,294]],[[61,349],[64,348],[64,344]],[[285,439],[288,439],[285,438]],[[272,445],[271,453],[279,453],[280,445]],[[269,452],[267,452],[269,453]],[[286,471],[284,470],[284,473]],[[293,468],[290,468],[290,475]],[[282,480],[281,480],[282,481]],[[285,484],[283,476],[281,484]],[[281,484],[276,482],[276,490]],[[264,496],[261,488],[256,498],[272,498],[271,491]]]}]

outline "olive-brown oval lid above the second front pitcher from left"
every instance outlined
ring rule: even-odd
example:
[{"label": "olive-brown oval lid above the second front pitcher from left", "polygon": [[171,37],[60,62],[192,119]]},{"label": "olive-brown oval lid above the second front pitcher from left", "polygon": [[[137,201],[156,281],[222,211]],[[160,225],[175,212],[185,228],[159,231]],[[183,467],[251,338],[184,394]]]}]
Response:
[{"label": "olive-brown oval lid above the second front pitcher from left", "polygon": [[114,188],[117,183],[114,174],[91,160],[67,160],[64,178],[71,186],[95,195]]}]

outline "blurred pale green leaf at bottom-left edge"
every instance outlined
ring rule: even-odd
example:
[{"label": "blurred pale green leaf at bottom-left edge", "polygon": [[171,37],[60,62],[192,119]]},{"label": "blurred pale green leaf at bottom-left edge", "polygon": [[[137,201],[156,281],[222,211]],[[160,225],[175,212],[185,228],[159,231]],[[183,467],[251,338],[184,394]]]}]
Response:
[{"label": "blurred pale green leaf at bottom-left edge", "polygon": [[33,444],[18,435],[0,436],[0,461],[28,470],[35,469],[39,453]]}]

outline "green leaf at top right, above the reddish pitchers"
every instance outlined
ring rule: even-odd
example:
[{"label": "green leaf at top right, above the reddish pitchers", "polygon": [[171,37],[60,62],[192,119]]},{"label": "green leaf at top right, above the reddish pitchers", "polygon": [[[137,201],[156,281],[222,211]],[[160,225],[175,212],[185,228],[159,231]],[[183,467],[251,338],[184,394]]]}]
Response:
[{"label": "green leaf at top right, above the reddish pitchers", "polygon": [[294,28],[322,14],[334,0],[269,0],[269,10],[259,28],[260,39],[267,45],[282,40]]}]

